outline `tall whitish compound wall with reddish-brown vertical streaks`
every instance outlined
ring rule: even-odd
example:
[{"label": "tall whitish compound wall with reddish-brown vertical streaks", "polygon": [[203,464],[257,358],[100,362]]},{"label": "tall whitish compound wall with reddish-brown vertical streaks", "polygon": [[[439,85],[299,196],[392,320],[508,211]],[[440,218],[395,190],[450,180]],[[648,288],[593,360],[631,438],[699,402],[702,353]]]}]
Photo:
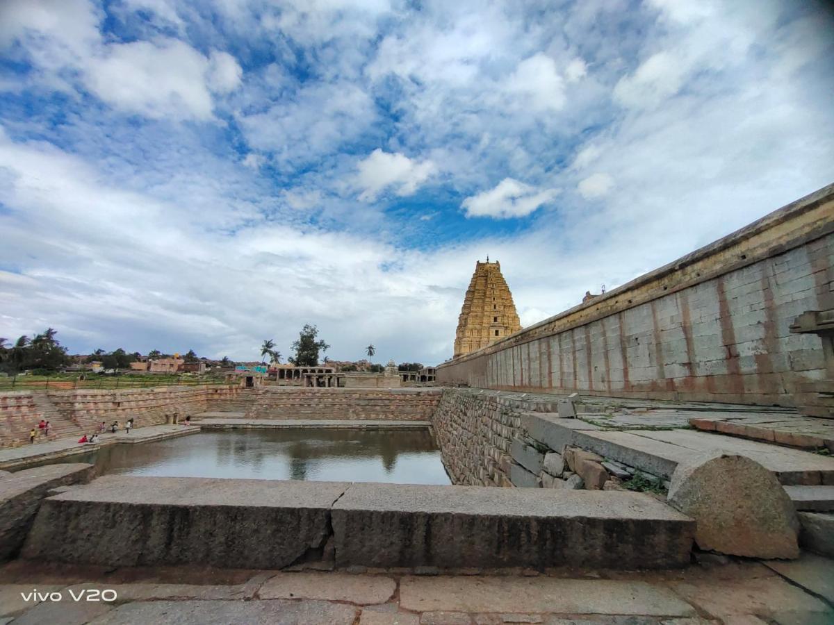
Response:
[{"label": "tall whitish compound wall with reddish-brown vertical streaks", "polygon": [[834,185],[631,283],[437,368],[439,383],[615,397],[794,405],[826,377]]}]

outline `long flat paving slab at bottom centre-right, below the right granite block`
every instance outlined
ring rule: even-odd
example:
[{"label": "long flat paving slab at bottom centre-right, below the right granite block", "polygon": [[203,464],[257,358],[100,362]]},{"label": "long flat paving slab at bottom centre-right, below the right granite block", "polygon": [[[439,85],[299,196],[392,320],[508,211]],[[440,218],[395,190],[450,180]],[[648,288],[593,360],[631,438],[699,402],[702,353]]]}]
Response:
[{"label": "long flat paving slab at bottom centre-right, below the right granite block", "polygon": [[415,612],[555,612],[696,616],[688,603],[646,582],[555,577],[403,577],[399,604]]}]

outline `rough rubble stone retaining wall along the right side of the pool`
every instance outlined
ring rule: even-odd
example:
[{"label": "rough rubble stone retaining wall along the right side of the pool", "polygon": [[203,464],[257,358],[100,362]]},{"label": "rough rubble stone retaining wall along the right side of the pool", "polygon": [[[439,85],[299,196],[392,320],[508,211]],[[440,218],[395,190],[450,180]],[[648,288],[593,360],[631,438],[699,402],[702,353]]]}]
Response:
[{"label": "rough rubble stone retaining wall along the right side of the pool", "polygon": [[[500,391],[446,388],[432,419],[452,483],[462,486],[621,490],[633,468],[595,453],[543,443],[536,433],[557,399],[501,397]],[[660,478],[640,472],[645,478]]]}]

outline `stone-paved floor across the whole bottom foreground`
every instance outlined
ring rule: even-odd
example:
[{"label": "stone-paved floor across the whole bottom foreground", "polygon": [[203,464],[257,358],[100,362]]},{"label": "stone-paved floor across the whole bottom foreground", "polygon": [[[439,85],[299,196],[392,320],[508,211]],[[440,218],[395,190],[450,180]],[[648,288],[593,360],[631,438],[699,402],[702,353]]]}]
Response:
[{"label": "stone-paved floor across the whole bottom foreground", "polygon": [[[0,567],[0,622],[333,625],[765,625],[834,622],[834,562],[699,555],[682,571],[495,576],[121,568],[13,561]],[[51,598],[28,598],[33,588]],[[115,601],[73,601],[70,591]],[[23,593],[23,595],[22,595]],[[41,595],[43,597],[43,594]]]}]

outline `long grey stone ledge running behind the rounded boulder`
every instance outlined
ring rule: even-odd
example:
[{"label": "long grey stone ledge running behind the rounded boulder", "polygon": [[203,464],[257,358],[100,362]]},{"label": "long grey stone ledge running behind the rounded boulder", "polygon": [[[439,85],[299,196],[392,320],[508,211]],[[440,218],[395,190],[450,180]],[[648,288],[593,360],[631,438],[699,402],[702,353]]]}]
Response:
[{"label": "long grey stone ledge running behind the rounded boulder", "polygon": [[783,485],[834,485],[834,458],[799,449],[692,430],[605,430],[579,419],[537,413],[522,413],[521,423],[551,449],[575,445],[665,479],[688,458],[726,451],[755,460]]}]

